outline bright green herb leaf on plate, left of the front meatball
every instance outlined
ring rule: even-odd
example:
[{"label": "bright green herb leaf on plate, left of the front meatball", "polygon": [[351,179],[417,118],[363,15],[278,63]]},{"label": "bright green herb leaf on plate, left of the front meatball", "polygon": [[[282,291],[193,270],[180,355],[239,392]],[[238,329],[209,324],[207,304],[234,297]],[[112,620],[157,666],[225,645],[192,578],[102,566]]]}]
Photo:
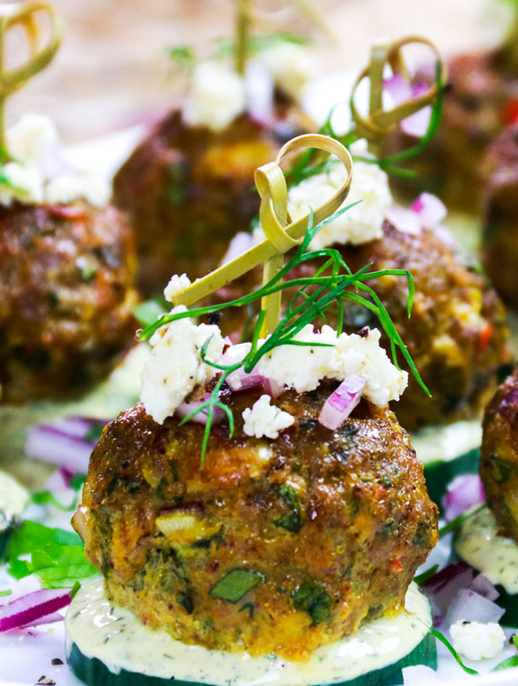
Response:
[{"label": "bright green herb leaf on plate, left of the front meatball", "polygon": [[[21,556],[30,555],[30,560]],[[98,574],[85,556],[78,534],[25,520],[8,541],[8,573],[16,579],[34,574],[44,588],[68,588]]]}]

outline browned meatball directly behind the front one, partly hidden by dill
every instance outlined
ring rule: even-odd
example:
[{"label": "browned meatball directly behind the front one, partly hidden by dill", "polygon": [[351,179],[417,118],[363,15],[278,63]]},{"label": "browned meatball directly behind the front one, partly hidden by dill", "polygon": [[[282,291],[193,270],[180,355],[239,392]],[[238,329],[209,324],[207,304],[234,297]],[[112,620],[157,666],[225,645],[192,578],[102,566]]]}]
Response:
[{"label": "browned meatball directly behind the front one, partly hidden by dill", "polygon": [[[371,264],[371,270],[407,269],[414,277],[415,297],[412,317],[407,316],[407,279],[386,276],[369,285],[376,290],[388,314],[407,345],[432,397],[412,373],[402,398],[393,403],[397,418],[408,430],[428,424],[445,424],[458,419],[479,417],[495,391],[496,372],[510,359],[507,350],[505,310],[486,279],[462,264],[433,231],[419,235],[397,231],[389,221],[383,223],[383,238],[364,245],[334,245],[352,271]],[[304,262],[290,278],[309,277],[321,262]],[[220,300],[238,298],[257,288],[259,271],[223,288]],[[288,302],[294,293],[285,293]],[[376,314],[363,306],[344,300],[345,329],[357,333],[363,326],[381,329]],[[245,327],[244,315],[232,308],[223,312],[220,326],[232,334]],[[326,320],[336,325],[332,310]],[[382,336],[381,345],[391,356],[390,341]],[[402,368],[409,371],[399,355]]]}]

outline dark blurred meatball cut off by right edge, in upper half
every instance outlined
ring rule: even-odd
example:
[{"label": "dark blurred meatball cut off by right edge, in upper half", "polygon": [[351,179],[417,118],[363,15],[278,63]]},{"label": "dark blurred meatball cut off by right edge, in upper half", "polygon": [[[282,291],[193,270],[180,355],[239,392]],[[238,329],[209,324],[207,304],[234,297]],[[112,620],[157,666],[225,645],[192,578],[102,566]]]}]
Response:
[{"label": "dark blurred meatball cut off by right edge, in upper half", "polygon": [[518,309],[518,126],[488,147],[482,169],[488,179],[483,220],[483,267],[502,298]]}]

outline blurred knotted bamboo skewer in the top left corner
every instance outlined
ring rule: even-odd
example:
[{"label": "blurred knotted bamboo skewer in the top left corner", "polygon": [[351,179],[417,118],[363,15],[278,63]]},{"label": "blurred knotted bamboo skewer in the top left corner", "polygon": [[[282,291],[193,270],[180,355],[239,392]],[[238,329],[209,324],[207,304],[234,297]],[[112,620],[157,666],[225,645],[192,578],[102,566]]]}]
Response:
[{"label": "blurred knotted bamboo skewer in the top left corner", "polygon": [[[40,28],[36,19],[38,12],[49,16],[51,30],[47,44],[40,46]],[[11,28],[20,25],[25,30],[30,57],[22,65],[5,68],[6,35]],[[8,159],[5,142],[5,102],[13,92],[21,88],[35,74],[42,71],[56,54],[63,35],[63,22],[57,11],[44,0],[29,0],[24,4],[0,6],[0,157]]]}]

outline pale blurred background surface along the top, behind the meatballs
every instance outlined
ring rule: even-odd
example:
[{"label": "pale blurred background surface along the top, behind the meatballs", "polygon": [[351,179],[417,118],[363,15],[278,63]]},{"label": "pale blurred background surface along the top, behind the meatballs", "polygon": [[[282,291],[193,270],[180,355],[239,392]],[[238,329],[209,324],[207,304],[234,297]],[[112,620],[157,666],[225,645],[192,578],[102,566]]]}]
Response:
[{"label": "pale blurred background surface along the top, behind the meatballs", "polygon": [[[257,0],[265,12],[287,4]],[[182,88],[173,78],[168,47],[191,44],[204,54],[214,39],[233,32],[231,0],[54,0],[54,5],[66,23],[63,45],[51,66],[11,98],[8,121],[24,111],[50,114],[67,144],[164,111]],[[313,0],[313,5],[334,40],[294,8],[276,13],[271,27],[314,37],[322,74],[363,66],[369,42],[381,36],[424,35],[450,56],[498,42],[508,21],[505,0]]]}]

